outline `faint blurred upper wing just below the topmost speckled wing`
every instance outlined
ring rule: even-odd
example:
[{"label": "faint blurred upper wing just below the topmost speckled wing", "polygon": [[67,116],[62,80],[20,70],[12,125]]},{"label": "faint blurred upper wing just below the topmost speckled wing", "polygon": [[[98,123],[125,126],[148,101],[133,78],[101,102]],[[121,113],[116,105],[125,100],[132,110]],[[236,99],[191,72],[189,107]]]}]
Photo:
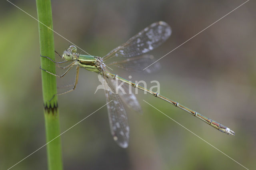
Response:
[{"label": "faint blurred upper wing just below the topmost speckled wing", "polygon": [[[127,58],[122,61],[113,61],[112,63],[107,65],[113,65],[127,71],[143,71],[145,67],[148,67],[148,65],[154,63],[154,61],[155,59],[153,55],[144,54],[138,57]],[[146,71],[146,73],[152,73],[160,69],[160,67],[160,63],[157,62],[154,63],[151,67],[146,68],[144,71]]]}]

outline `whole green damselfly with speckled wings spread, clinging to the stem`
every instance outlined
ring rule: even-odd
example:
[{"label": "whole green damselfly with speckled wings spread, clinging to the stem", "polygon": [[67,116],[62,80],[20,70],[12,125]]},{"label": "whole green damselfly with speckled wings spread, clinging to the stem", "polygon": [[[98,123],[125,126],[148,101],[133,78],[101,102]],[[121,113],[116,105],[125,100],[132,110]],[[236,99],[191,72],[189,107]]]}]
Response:
[{"label": "whole green damselfly with speckled wings spread, clinging to the stem", "polygon": [[[127,93],[127,89],[125,89],[125,93],[119,90],[118,90],[118,93],[115,91],[115,88],[114,88],[115,80],[124,82],[132,87],[146,91],[147,93],[150,93],[151,95],[154,95],[155,97],[158,97],[164,101],[167,101],[168,103],[171,103],[172,105],[192,114],[193,116],[206,122],[212,127],[220,130],[221,132],[234,135],[234,132],[230,130],[230,128],[224,125],[221,125],[216,121],[208,119],[207,117],[204,117],[198,112],[188,109],[187,107],[179,104],[178,102],[172,101],[160,95],[159,93],[148,90],[136,83],[123,79],[122,77],[119,77],[114,73],[111,73],[106,68],[108,66],[117,66],[117,67],[126,69],[128,71],[130,70],[142,71],[142,69],[144,69],[154,61],[152,59],[152,55],[147,55],[144,53],[151,51],[152,49],[158,47],[160,44],[165,42],[171,35],[171,32],[172,31],[170,26],[165,22],[162,22],[162,21],[155,22],[150,26],[146,27],[144,30],[142,30],[138,34],[136,34],[135,36],[133,36],[132,38],[130,38],[126,43],[123,43],[122,45],[110,51],[104,57],[81,55],[77,53],[76,46],[71,45],[68,49],[64,51],[62,56],[59,55],[60,57],[62,57],[62,59],[65,59],[65,61],[55,62],[49,57],[46,57],[51,61],[53,61],[54,63],[56,63],[57,65],[69,62],[70,64],[67,65],[66,67],[59,66],[60,68],[67,69],[64,72],[64,74],[56,75],[56,74],[50,73],[45,69],[43,70],[57,77],[63,77],[64,75],[66,75],[68,71],[70,71],[72,67],[76,66],[76,81],[74,83],[73,89],[68,90],[64,93],[56,94],[56,95],[68,93],[76,88],[76,84],[78,82],[79,67],[82,67],[84,69],[87,69],[89,71],[93,71],[102,75],[103,77],[102,82],[105,87],[104,89],[105,89],[105,95],[106,95],[106,102],[108,103],[107,108],[108,108],[108,118],[110,123],[110,131],[114,140],[117,142],[117,144],[123,148],[126,148],[128,146],[130,128],[128,125],[126,111],[124,109],[122,102],[124,102],[128,107],[138,112],[141,110],[141,108],[135,95],[132,93]],[[42,57],[45,57],[45,56],[42,56]],[[119,61],[114,61],[106,65],[105,61],[113,57],[116,57],[114,59],[119,59]],[[126,59],[120,60],[122,57],[126,57]],[[156,69],[156,67],[158,67],[158,65],[154,64],[149,68],[145,69],[145,71],[150,72]]]}]

